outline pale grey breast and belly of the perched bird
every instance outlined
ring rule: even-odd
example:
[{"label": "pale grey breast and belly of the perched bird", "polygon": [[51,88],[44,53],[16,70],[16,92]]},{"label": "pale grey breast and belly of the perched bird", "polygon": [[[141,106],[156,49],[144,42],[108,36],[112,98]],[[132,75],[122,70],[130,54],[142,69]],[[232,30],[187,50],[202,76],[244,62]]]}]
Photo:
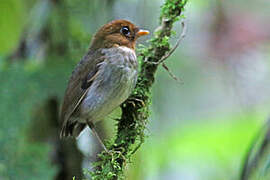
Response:
[{"label": "pale grey breast and belly of the perched bird", "polygon": [[105,61],[98,64],[96,79],[80,107],[83,119],[99,121],[124,102],[137,80],[137,58],[127,47],[103,49]]}]

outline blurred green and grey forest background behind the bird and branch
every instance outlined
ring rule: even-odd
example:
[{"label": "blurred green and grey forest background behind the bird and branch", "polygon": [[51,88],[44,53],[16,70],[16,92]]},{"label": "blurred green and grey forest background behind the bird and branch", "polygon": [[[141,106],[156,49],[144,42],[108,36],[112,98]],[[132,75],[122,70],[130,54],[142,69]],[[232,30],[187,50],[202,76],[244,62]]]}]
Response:
[{"label": "blurred green and grey forest background behind the bird and branch", "polygon": [[[59,140],[70,73],[93,33],[124,18],[155,30],[162,0],[1,0],[0,179],[83,178],[100,151],[89,130]],[[192,0],[188,31],[152,89],[148,138],[128,180],[235,180],[270,115],[270,2]],[[181,26],[175,26],[174,44]],[[139,43],[147,45],[147,39]],[[98,125],[115,132],[120,110]],[[268,164],[269,166],[269,164]]]}]

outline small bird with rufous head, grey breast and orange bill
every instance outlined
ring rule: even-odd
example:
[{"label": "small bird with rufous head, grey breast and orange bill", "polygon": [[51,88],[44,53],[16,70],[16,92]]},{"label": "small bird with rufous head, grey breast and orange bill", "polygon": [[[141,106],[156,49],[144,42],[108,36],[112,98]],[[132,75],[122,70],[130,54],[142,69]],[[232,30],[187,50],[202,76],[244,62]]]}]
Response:
[{"label": "small bird with rufous head, grey breast and orange bill", "polygon": [[124,19],[113,20],[96,32],[67,84],[60,113],[61,138],[76,138],[88,126],[107,151],[95,123],[121,105],[134,89],[136,41],[148,34]]}]

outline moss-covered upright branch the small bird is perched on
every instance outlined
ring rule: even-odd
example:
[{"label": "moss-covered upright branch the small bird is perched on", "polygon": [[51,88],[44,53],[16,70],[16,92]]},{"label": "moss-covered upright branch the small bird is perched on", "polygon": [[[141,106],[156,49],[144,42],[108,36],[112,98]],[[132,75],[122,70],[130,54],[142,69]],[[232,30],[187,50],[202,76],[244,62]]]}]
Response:
[{"label": "moss-covered upright branch the small bird is perched on", "polygon": [[[173,24],[182,17],[187,0],[166,0],[161,7],[160,26],[149,47],[140,49],[140,74],[134,92],[122,104],[122,116],[117,123],[117,135],[109,146],[110,153],[102,152],[95,170],[94,180],[123,179],[126,163],[144,142],[145,128],[149,117],[151,87],[162,57],[170,52],[169,39]],[[152,62],[152,63],[151,63]]]}]

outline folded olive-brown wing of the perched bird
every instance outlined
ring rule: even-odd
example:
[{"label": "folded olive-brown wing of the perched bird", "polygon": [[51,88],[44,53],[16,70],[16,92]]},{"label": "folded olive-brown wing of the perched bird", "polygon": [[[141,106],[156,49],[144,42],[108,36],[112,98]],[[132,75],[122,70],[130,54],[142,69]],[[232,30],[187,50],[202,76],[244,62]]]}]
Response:
[{"label": "folded olive-brown wing of the perched bird", "polygon": [[88,53],[73,70],[62,105],[60,116],[62,123],[65,124],[69,120],[72,113],[84,99],[92,81],[98,73],[98,63],[103,60],[104,57],[100,52]]}]

